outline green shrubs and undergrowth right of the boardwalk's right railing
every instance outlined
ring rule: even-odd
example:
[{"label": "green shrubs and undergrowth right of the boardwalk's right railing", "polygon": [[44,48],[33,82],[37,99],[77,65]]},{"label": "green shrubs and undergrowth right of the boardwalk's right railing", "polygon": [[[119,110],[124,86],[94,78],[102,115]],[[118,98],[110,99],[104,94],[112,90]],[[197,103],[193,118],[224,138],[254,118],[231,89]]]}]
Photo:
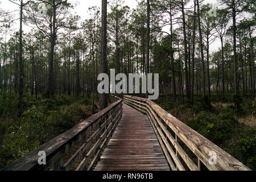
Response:
[{"label": "green shrubs and undergrowth right of the boardwalk's right railing", "polygon": [[[225,102],[221,101],[222,98],[216,96],[205,100],[195,97],[195,104],[191,105],[182,98],[176,101],[159,98],[156,104],[255,170],[256,129],[239,123],[236,118],[255,114],[256,100],[240,96],[234,100],[230,96],[226,97]],[[241,107],[237,109],[234,101]]]}]

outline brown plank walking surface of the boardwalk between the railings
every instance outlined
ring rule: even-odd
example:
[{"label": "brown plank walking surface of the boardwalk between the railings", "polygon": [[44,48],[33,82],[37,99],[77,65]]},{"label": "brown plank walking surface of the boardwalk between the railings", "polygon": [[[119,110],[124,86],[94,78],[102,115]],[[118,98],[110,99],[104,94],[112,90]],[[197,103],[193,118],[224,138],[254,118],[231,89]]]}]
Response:
[{"label": "brown plank walking surface of the boardwalk between the railings", "polygon": [[123,105],[122,119],[95,171],[170,170],[146,115]]}]

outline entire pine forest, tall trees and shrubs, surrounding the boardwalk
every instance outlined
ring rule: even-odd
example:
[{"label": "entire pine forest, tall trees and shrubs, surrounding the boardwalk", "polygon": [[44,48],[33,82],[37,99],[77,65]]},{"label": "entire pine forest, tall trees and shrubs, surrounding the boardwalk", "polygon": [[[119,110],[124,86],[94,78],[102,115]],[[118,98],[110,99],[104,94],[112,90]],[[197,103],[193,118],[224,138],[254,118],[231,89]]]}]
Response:
[{"label": "entire pine forest, tall trees and shrubs, surrounding the boardwalk", "polygon": [[96,1],[0,0],[0,169],[105,109],[115,69],[256,170],[255,0]]}]

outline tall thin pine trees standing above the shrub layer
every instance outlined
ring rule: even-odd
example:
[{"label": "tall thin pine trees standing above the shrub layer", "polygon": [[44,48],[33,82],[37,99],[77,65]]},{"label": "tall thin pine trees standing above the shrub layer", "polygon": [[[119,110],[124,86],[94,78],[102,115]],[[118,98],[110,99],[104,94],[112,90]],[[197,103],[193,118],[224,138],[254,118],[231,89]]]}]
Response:
[{"label": "tall thin pine trees standing above the shrub layer", "polygon": [[159,73],[160,94],[192,103],[194,94],[255,97],[254,2],[220,0],[212,12],[198,0],[138,1],[136,9],[102,1],[85,20],[71,13],[76,5],[69,1],[13,3],[19,12],[1,10],[0,90],[18,94],[20,107],[23,94],[94,98],[98,73],[110,68]]}]

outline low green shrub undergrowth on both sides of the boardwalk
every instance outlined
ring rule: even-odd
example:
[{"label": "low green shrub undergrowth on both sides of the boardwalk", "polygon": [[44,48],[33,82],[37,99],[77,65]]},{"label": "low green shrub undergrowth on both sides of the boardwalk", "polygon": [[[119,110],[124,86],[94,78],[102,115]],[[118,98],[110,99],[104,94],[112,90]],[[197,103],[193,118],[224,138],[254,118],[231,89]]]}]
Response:
[{"label": "low green shrub undergrowth on both sides of the boardwalk", "polygon": [[[98,96],[96,95],[96,98]],[[23,98],[19,117],[18,97],[0,94],[0,168],[14,162],[92,115],[92,97],[60,95],[55,98]],[[168,113],[208,138],[234,158],[255,170],[256,98],[242,97],[235,107],[232,96],[212,96],[195,103],[182,96],[160,96],[155,101]],[[98,103],[94,113],[98,111]]]}]

